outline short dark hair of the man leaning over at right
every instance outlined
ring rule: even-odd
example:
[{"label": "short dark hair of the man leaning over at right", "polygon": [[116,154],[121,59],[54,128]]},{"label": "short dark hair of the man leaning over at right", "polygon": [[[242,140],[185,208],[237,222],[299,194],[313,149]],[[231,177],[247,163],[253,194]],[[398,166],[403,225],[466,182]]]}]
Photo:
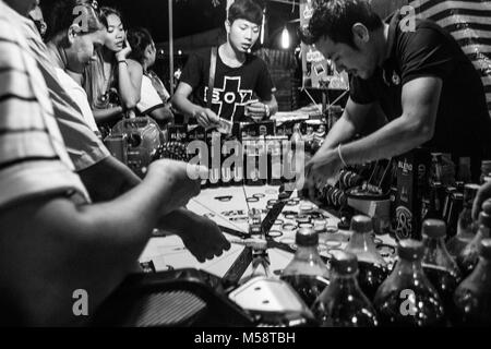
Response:
[{"label": "short dark hair of the man leaning over at right", "polygon": [[309,25],[300,31],[300,39],[312,45],[327,36],[334,43],[355,46],[352,26],[363,24],[369,31],[382,27],[382,19],[367,0],[318,0]]}]

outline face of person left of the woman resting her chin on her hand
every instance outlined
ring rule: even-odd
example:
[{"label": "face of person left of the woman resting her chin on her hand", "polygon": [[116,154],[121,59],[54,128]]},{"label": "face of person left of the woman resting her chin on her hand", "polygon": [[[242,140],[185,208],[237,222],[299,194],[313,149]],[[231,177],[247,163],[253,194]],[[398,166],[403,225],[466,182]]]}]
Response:
[{"label": "face of person left of the woman resting her chin on her hand", "polygon": [[100,29],[89,34],[72,35],[70,47],[67,49],[70,70],[82,73],[84,68],[95,59],[96,50],[106,41],[107,33]]}]

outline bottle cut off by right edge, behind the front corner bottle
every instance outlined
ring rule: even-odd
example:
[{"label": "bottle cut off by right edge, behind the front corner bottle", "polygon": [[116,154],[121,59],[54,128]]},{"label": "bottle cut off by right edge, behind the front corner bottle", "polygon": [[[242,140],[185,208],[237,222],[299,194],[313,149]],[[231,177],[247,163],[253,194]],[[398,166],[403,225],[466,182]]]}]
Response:
[{"label": "bottle cut off by right edge, behind the front corner bottle", "polygon": [[482,212],[479,214],[479,229],[474,239],[464,248],[457,256],[457,264],[464,277],[472,273],[479,261],[479,245],[482,239],[490,238],[491,229],[491,201],[482,204]]}]

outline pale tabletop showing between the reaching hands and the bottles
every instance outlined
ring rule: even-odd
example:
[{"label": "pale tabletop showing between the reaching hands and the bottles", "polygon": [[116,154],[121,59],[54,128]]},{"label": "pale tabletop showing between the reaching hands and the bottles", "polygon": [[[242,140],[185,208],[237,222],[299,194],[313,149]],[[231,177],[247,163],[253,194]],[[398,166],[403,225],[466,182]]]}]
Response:
[{"label": "pale tabletop showing between the reaching hands and the bottles", "polygon": [[[254,194],[260,194],[258,202],[246,201],[247,197],[252,197]],[[213,219],[217,225],[233,229],[236,231],[248,232],[249,225],[247,222],[248,209],[256,208],[262,209],[262,219],[266,215],[266,205],[268,200],[276,200],[279,194],[279,186],[226,186],[214,188],[203,190],[199,196],[191,200],[188,204],[188,208],[199,215],[206,216]],[[230,201],[219,201],[216,197],[219,196],[232,196]],[[292,197],[297,197],[297,193],[294,192]],[[309,201],[301,200],[300,203],[294,205],[286,205],[283,213],[296,212],[299,213],[300,205],[303,203],[311,203]],[[315,210],[322,213],[327,221],[327,226],[337,227],[339,219],[334,215],[327,213],[314,206]],[[292,219],[287,219],[283,215],[279,215],[278,219],[282,219],[284,224],[297,224]],[[233,219],[233,220],[232,220]],[[286,231],[282,226],[274,225],[271,230],[280,231],[283,236],[275,238],[274,240],[285,245],[291,246],[294,250],[296,231]],[[227,239],[237,239],[229,233],[224,232]],[[347,241],[349,240],[350,231],[338,230],[333,233],[320,234],[320,252],[322,256],[328,256],[328,251],[332,249],[345,249]],[[395,241],[388,236],[376,236],[380,239],[379,242],[395,245]],[[177,236],[157,236],[152,238],[145,250],[140,256],[140,262],[152,261],[157,272],[178,269],[178,268],[196,268],[203,269],[216,276],[223,277],[233,262],[239,257],[244,246],[237,243],[231,243],[229,251],[224,252],[219,257],[215,257],[205,263],[200,263],[197,260],[185,249],[181,239]],[[294,253],[284,251],[282,249],[268,249],[270,257],[270,272],[271,276],[279,277],[282,270],[292,260]],[[251,265],[243,274],[243,278],[249,277],[252,274]]]}]

